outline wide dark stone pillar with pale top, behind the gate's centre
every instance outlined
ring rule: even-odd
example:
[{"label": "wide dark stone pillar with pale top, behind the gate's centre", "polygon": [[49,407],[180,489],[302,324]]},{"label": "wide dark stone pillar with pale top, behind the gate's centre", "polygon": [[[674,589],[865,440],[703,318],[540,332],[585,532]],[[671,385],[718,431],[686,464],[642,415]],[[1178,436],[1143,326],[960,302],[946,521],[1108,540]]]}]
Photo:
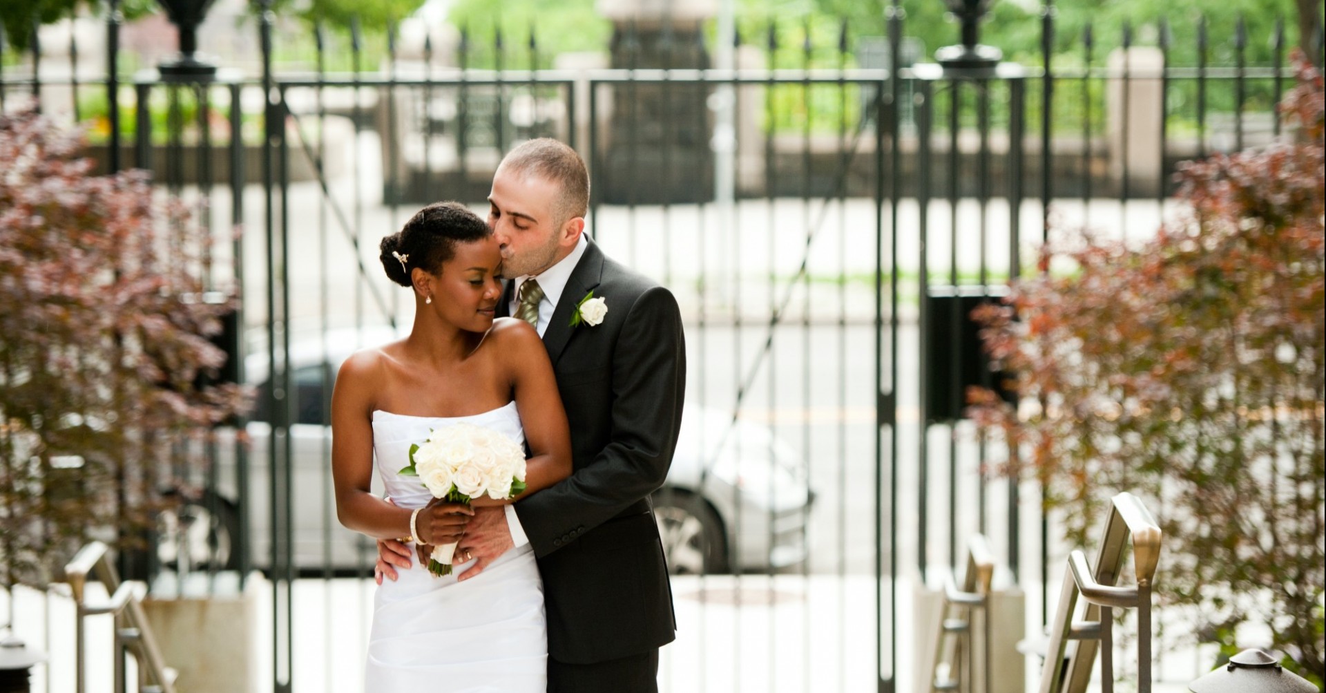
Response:
[{"label": "wide dark stone pillar with pale top, behind the gate's centre", "polygon": [[[611,66],[708,69],[704,20],[713,0],[599,0],[613,21]],[[713,116],[697,84],[622,84],[597,162],[598,199],[610,204],[713,198]]]}]

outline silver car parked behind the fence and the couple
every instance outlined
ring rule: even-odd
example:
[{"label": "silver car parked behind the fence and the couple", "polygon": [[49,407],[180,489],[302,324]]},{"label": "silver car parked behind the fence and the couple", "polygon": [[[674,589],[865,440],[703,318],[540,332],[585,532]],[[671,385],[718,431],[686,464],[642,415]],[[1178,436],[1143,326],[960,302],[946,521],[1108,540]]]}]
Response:
[{"label": "silver car parked behind the fence and the couple", "polygon": [[[301,571],[363,571],[374,547],[335,519],[332,493],[330,426],[324,425],[330,385],[355,349],[383,344],[395,333],[383,328],[330,331],[297,340],[290,348],[294,424],[292,465],[277,479],[292,498],[293,556]],[[271,392],[265,352],[245,361],[245,377],[259,389],[259,406],[247,426],[248,547],[255,567],[271,563]],[[813,494],[805,461],[768,426],[737,421],[729,413],[687,405],[676,454],[666,485],[654,494],[654,510],[668,566],[678,574],[777,570],[806,558],[806,520]],[[213,490],[195,494],[159,519],[158,558],[172,566],[237,567],[240,515],[235,439],[223,434]],[[377,486],[377,475],[375,486]],[[378,490],[381,493],[381,490]]]}]

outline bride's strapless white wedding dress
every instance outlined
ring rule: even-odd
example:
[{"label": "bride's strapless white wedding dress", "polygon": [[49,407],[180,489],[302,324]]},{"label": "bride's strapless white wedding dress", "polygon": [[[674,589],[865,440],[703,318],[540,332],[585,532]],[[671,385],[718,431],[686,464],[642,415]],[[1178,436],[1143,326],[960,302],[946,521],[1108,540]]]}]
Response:
[{"label": "bride's strapless white wedding dress", "polygon": [[[410,445],[423,442],[432,429],[460,422],[499,430],[521,443],[525,439],[516,402],[469,417],[373,413],[378,474],[398,506],[419,507],[431,498],[418,477],[396,473],[410,463]],[[410,570],[396,570],[398,580],[382,581],[374,597],[365,690],[548,689],[544,583],[529,544],[457,583],[464,568],[459,563],[452,575],[434,578],[416,555]]]}]

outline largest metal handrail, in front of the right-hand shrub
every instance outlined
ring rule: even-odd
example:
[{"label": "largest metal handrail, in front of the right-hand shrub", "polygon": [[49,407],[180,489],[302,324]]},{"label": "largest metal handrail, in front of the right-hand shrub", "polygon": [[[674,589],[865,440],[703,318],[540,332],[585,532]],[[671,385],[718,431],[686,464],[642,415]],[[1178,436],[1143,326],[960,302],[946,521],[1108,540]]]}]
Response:
[{"label": "largest metal handrail, in front of the right-hand shrub", "polygon": [[[1135,587],[1119,587],[1128,539],[1132,543]],[[1110,518],[1097,554],[1089,566],[1086,554],[1069,554],[1059,605],[1050,627],[1050,641],[1041,669],[1041,693],[1083,693],[1091,665],[1101,653],[1101,692],[1114,692],[1114,608],[1138,609],[1138,693],[1151,692],[1151,589],[1160,563],[1160,527],[1135,495],[1120,493],[1111,499]],[[1085,616],[1073,620],[1078,597],[1086,601]],[[1070,640],[1077,641],[1071,654]]]}]

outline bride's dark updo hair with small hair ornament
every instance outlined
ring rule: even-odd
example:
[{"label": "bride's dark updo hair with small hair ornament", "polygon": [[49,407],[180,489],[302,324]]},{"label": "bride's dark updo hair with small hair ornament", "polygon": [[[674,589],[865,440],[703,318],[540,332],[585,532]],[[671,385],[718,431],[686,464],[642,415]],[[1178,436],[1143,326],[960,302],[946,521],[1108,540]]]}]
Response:
[{"label": "bride's dark updo hair with small hair ornament", "polygon": [[387,277],[411,285],[415,267],[436,275],[456,255],[456,243],[473,243],[492,234],[488,224],[459,202],[434,202],[419,210],[400,231],[385,236],[378,250]]}]

